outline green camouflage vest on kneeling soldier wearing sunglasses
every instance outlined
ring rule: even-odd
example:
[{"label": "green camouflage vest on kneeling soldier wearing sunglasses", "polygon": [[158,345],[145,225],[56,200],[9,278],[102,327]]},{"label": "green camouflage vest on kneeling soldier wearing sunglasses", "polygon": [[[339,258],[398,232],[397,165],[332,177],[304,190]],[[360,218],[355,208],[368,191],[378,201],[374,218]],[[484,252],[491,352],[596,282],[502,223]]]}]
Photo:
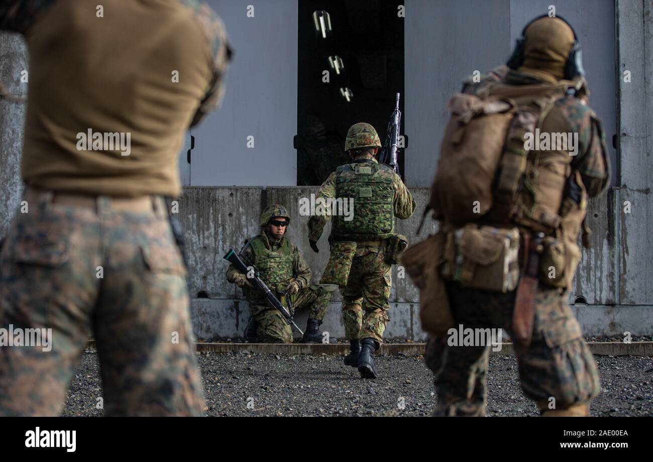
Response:
[{"label": "green camouflage vest on kneeling soldier wearing sunglasses", "polygon": [[[293,277],[293,249],[288,239],[283,239],[283,244],[278,250],[271,251],[265,247],[261,236],[257,236],[251,240],[249,249],[254,255],[252,263],[261,272],[261,281],[272,292],[276,293],[280,283],[287,284]],[[243,292],[249,303],[262,305],[268,303],[264,295],[249,286],[244,286]]]}]

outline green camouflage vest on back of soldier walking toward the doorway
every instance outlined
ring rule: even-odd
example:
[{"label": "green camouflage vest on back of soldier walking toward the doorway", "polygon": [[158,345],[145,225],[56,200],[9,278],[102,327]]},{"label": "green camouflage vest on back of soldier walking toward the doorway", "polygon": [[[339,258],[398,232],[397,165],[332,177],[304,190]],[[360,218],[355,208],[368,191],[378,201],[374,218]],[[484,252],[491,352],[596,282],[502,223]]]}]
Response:
[{"label": "green camouflage vest on back of soldier walking toward the doorway", "polygon": [[[394,170],[372,161],[354,162],[336,169],[336,198],[353,199],[353,219],[333,217],[335,240],[386,239],[394,230]],[[351,201],[350,201],[351,202]]]}]

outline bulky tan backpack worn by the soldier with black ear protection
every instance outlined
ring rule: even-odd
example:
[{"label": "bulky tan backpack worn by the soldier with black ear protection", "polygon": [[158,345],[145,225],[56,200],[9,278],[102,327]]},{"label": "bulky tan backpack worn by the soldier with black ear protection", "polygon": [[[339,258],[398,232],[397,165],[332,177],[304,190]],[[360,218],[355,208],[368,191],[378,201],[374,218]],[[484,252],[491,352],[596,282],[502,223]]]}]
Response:
[{"label": "bulky tan backpack worn by the soldier with black ear protection", "polygon": [[453,226],[485,215],[496,194],[512,195],[526,170],[524,134],[535,132],[571,82],[490,87],[481,97],[456,93],[440,147],[429,208]]}]

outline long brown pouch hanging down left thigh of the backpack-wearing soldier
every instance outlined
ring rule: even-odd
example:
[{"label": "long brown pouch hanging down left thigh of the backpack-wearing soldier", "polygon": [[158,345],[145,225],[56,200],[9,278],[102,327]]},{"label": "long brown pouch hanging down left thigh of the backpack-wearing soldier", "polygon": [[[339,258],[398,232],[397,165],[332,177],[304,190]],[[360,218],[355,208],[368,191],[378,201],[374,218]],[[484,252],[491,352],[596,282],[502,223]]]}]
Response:
[{"label": "long brown pouch hanging down left thigh of the backpack-wearing soldier", "polygon": [[443,334],[454,324],[445,281],[439,266],[444,261],[446,234],[436,234],[421,241],[400,256],[413,283],[419,288],[419,318],[422,329]]}]

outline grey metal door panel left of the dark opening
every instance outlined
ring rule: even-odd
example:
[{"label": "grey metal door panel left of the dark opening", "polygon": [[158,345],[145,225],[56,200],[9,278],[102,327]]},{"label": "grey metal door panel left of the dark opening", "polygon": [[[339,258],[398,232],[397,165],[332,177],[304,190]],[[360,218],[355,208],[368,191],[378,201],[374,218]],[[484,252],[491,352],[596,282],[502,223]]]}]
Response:
[{"label": "grey metal door panel left of the dark opening", "polygon": [[207,3],[225,22],[235,55],[222,107],[192,131],[189,183],[294,186],[297,0]]}]

